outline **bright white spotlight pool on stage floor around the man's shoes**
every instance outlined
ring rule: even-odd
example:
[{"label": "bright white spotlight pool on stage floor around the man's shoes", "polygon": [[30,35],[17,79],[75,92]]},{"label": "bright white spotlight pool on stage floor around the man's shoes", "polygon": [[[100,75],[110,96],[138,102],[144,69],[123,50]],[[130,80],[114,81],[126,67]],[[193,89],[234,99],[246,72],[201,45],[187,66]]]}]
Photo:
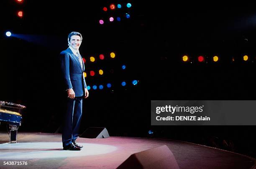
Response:
[{"label": "bright white spotlight pool on stage floor around the man's shoes", "polygon": [[[79,143],[80,144],[80,143]],[[0,159],[34,159],[50,157],[77,157],[107,154],[115,151],[115,146],[83,143],[81,151],[63,150],[61,142],[25,142],[0,144]],[[15,152],[15,155],[14,155]]]}]

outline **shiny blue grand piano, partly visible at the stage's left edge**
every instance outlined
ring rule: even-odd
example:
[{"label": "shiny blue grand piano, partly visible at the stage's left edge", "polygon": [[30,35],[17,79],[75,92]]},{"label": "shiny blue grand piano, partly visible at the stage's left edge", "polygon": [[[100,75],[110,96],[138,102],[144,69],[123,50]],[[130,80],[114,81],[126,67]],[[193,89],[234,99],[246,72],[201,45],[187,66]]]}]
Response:
[{"label": "shiny blue grand piano, partly visible at the stage's left edge", "polygon": [[9,143],[17,143],[18,128],[21,126],[22,112],[26,107],[20,104],[0,101],[0,123],[7,125]]}]

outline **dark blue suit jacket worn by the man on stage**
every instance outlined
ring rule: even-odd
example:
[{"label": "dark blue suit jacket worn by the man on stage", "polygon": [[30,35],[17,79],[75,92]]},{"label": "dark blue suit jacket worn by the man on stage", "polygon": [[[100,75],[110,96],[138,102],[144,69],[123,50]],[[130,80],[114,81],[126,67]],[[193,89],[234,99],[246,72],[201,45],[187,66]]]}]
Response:
[{"label": "dark blue suit jacket worn by the man on stage", "polygon": [[83,70],[76,55],[71,49],[64,50],[60,53],[61,72],[64,78],[65,89],[73,88],[75,97],[84,96],[86,82],[84,79],[84,62]]}]

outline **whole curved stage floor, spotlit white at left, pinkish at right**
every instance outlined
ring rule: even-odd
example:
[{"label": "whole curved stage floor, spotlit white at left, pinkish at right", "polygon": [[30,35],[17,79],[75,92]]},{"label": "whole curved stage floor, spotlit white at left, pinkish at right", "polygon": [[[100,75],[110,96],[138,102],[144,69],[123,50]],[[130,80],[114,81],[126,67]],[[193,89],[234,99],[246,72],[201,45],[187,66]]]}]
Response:
[{"label": "whole curved stage floor, spotlit white at left, pinkish at right", "polygon": [[[82,151],[62,150],[61,134],[19,132],[18,143],[7,144],[8,139],[6,132],[0,133],[0,168],[114,169],[131,154],[162,145],[169,147],[180,169],[250,169],[256,164],[255,159],[240,154],[167,139],[78,138]],[[27,165],[3,166],[8,161]]]}]

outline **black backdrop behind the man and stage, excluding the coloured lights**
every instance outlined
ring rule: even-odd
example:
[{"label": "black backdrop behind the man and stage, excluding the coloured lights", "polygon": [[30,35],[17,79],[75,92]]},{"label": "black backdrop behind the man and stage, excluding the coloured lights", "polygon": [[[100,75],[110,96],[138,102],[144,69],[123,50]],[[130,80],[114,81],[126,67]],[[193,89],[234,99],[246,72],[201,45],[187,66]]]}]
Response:
[{"label": "black backdrop behind the man and stage, excluding the coloured lights", "polygon": [[[104,12],[112,2],[123,8]],[[113,84],[111,89],[89,90],[80,132],[106,127],[112,136],[180,139],[256,157],[254,126],[150,124],[151,100],[255,100],[254,6],[129,1],[132,7],[127,10],[125,2],[8,0],[1,5],[0,100],[27,107],[19,131],[61,132],[58,56],[67,48],[68,34],[78,31],[86,71],[105,70],[103,77],[88,76],[87,85]],[[20,9],[23,18],[16,15]],[[108,22],[110,15],[121,21]],[[16,37],[6,37],[7,30]],[[110,52],[116,53],[114,60]],[[106,59],[89,62],[99,54]],[[192,63],[182,62],[182,55],[189,55]],[[204,63],[197,62],[199,55],[205,56]],[[220,61],[213,63],[213,55]],[[243,55],[249,56],[248,62]],[[121,70],[123,64],[126,70]],[[123,80],[125,87],[120,85]],[[138,85],[131,85],[132,80],[139,80]]]}]

